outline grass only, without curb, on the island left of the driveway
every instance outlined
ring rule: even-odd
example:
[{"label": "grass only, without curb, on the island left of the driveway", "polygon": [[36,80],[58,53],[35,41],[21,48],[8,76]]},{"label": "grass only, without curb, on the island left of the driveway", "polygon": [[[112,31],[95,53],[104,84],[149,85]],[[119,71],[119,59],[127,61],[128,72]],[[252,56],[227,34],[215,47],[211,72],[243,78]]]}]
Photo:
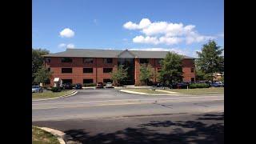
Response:
[{"label": "grass only, without curb, on the island left of the driveway", "polygon": [[52,92],[44,90],[42,93],[32,93],[32,99],[41,99],[41,98],[55,98],[62,96],[64,94],[70,94],[73,90],[62,90],[61,92]]}]

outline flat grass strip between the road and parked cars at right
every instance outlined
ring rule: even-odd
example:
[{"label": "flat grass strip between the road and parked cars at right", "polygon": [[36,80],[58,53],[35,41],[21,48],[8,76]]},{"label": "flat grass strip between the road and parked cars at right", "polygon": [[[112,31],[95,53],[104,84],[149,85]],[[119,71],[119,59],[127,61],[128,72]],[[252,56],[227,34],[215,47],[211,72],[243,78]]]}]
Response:
[{"label": "flat grass strip between the road and parked cars at right", "polygon": [[224,93],[224,87],[210,87],[198,89],[170,89],[168,91],[178,92],[182,94],[201,94],[201,93]]}]

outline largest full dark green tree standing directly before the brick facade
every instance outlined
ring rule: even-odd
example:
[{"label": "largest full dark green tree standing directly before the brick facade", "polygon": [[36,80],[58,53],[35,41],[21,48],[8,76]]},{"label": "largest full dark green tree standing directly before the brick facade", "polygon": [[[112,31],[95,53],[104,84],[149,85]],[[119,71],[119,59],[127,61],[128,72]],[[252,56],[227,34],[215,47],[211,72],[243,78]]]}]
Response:
[{"label": "largest full dark green tree standing directly before the brick facade", "polygon": [[159,80],[165,84],[182,81],[182,56],[174,52],[166,54],[161,62],[162,69],[160,70]]}]

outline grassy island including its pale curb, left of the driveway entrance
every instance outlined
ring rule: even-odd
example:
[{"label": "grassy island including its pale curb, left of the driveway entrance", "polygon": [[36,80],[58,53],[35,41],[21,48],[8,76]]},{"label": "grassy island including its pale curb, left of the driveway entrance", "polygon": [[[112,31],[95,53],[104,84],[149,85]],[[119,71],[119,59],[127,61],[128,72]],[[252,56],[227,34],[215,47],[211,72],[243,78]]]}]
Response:
[{"label": "grassy island including its pale curb, left of the driveway entrance", "polygon": [[75,90],[62,90],[61,92],[52,92],[52,91],[44,91],[42,93],[32,93],[32,100],[42,100],[42,99],[50,99],[50,98],[59,98],[65,97],[70,94],[74,94]]}]

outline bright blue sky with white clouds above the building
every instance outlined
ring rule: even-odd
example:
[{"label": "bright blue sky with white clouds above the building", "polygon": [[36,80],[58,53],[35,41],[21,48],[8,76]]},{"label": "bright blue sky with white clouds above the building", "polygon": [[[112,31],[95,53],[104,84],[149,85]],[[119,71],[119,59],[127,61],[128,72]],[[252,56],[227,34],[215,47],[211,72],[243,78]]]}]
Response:
[{"label": "bright blue sky with white clouds above the building", "polygon": [[224,46],[223,0],[33,0],[32,46],[173,50]]}]

